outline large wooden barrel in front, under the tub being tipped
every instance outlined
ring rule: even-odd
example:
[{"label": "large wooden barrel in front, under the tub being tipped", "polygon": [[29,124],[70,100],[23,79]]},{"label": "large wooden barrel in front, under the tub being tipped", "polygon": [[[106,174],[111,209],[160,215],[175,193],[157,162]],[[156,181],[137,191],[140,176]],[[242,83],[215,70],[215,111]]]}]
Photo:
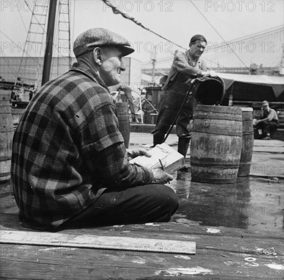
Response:
[{"label": "large wooden barrel in front, under the tub being tipped", "polygon": [[235,183],[242,150],[240,107],[197,105],[190,145],[191,178]]}]

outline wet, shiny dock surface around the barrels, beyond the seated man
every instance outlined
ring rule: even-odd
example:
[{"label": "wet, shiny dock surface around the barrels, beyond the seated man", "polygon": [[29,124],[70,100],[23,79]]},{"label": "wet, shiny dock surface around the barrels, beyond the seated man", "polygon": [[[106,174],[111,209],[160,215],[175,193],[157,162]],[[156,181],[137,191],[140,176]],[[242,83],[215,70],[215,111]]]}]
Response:
[{"label": "wet, shiny dock surface around the barrels, beyond the seated man", "polygon": [[[177,150],[177,137],[170,134],[167,144]],[[132,133],[131,147],[150,149],[149,134]],[[201,226],[283,232],[284,142],[255,140],[250,176],[233,184],[194,182],[191,173],[177,171],[172,187],[179,198],[173,216],[176,222]],[[186,158],[190,166],[190,150]]]}]

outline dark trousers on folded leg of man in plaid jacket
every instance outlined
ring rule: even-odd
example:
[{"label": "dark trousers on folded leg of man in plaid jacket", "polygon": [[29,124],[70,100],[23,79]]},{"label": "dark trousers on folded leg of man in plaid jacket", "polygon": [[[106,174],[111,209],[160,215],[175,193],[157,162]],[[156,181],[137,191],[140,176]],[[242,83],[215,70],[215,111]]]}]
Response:
[{"label": "dark trousers on folded leg of man in plaid jacket", "polygon": [[177,208],[175,192],[165,185],[108,188],[91,206],[61,227],[168,222]]}]

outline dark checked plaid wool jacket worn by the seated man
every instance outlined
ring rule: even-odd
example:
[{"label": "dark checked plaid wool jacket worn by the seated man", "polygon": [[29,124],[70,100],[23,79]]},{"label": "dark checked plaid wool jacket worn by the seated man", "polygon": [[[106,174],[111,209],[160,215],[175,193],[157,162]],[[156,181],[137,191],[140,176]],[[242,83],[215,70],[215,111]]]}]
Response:
[{"label": "dark checked plaid wool jacket worn by the seated man", "polygon": [[106,188],[145,185],[153,174],[127,161],[107,86],[77,62],[25,110],[14,133],[11,179],[20,219],[56,228]]}]

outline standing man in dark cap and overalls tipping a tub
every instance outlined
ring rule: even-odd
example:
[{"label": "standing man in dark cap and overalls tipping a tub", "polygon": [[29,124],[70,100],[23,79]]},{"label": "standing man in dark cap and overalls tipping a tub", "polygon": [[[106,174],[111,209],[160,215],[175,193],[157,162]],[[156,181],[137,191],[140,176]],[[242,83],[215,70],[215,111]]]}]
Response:
[{"label": "standing man in dark cap and overalls tipping a tub", "polygon": [[[191,38],[186,52],[176,51],[173,64],[163,90],[159,104],[159,114],[156,128],[152,131],[154,146],[161,144],[166,132],[182,105],[193,78],[216,76],[214,71],[206,72],[205,62],[200,58],[205,50],[207,41],[202,35]],[[176,134],[178,136],[178,152],[186,157],[191,138],[192,122],[197,103],[192,95],[185,103],[176,120]]]}]

